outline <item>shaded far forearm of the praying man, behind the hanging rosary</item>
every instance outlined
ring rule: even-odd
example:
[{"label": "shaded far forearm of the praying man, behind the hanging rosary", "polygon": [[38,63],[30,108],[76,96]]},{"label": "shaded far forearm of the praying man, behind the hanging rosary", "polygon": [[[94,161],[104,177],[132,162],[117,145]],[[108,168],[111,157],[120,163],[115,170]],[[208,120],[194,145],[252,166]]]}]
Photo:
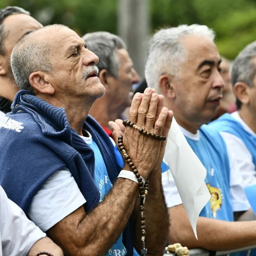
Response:
[{"label": "shaded far forearm of the praying man, behind the hanging rosary", "polygon": [[[140,201],[138,201],[138,204]],[[139,206],[136,206],[139,209]],[[134,212],[135,213],[135,212]],[[136,216],[137,215],[137,216]],[[149,193],[145,201],[145,220],[146,220],[146,248],[147,255],[163,255],[164,247],[167,243],[169,228],[169,215],[164,200],[164,194],[161,183],[161,170],[152,171],[149,174]],[[140,232],[140,212],[136,211],[134,218],[136,222],[135,244],[141,248]]]}]

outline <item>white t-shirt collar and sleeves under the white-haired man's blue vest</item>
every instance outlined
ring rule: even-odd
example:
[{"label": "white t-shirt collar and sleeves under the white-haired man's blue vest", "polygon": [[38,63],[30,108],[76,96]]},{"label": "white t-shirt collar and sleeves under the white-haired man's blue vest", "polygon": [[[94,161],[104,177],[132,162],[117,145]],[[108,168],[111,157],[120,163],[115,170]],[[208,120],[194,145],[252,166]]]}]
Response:
[{"label": "white t-shirt collar and sleeves under the white-haired man's blue vest", "polygon": [[[196,134],[193,134],[185,130],[183,127],[181,126],[179,127],[182,133],[188,138],[190,138],[191,140],[199,140],[200,134],[198,131]],[[167,160],[165,156],[164,156],[164,163],[167,164]],[[251,206],[241,186],[242,176],[233,154],[229,155],[229,164],[230,164],[230,195],[231,195],[233,212],[247,211],[248,209],[251,208]],[[177,190],[177,187],[175,185],[172,175],[171,174],[168,174],[168,175],[169,176],[167,176],[167,172],[162,173],[162,185],[164,189],[164,195],[165,195],[167,207],[170,208],[172,206],[182,204],[182,200],[179,196],[179,192]]]}]

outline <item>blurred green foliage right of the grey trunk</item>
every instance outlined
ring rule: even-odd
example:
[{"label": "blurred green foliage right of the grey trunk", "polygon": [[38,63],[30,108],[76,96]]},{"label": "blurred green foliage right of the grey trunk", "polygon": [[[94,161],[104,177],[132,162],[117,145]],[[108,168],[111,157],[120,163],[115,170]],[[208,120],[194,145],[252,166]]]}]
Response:
[{"label": "blurred green foliage right of the grey trunk", "polygon": [[152,32],[179,24],[204,24],[216,33],[221,55],[234,59],[256,40],[253,0],[151,0]]}]

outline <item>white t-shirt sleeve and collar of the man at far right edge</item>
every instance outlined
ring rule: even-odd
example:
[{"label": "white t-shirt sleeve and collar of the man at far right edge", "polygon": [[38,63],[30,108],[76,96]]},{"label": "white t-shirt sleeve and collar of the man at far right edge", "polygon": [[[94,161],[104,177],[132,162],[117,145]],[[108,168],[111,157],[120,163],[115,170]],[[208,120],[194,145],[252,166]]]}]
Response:
[{"label": "white t-shirt sleeve and collar of the man at far right edge", "polygon": [[[238,111],[232,113],[231,116],[242,125],[245,131],[256,137],[254,131],[252,131],[251,128],[239,116]],[[243,187],[256,184],[255,166],[252,161],[251,153],[245,144],[240,138],[231,133],[220,132],[220,134],[226,143],[228,155],[230,156],[233,154],[236,158],[236,164],[238,165],[243,178],[241,183]]]}]

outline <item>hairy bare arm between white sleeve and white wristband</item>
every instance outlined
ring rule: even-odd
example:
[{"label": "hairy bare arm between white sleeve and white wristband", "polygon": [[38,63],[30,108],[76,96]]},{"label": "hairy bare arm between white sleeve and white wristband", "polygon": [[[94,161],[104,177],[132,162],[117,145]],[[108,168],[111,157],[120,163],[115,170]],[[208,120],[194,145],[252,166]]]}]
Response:
[{"label": "hairy bare arm between white sleeve and white wristband", "polygon": [[[136,182],[119,178],[103,202],[92,212],[86,214],[83,206],[80,207],[80,212],[76,210],[66,217],[71,218],[71,221],[66,220],[71,224],[64,223],[65,228],[61,232],[51,228],[50,236],[70,255],[105,255],[124,230],[138,195]],[[67,235],[65,239],[64,230]]]}]

